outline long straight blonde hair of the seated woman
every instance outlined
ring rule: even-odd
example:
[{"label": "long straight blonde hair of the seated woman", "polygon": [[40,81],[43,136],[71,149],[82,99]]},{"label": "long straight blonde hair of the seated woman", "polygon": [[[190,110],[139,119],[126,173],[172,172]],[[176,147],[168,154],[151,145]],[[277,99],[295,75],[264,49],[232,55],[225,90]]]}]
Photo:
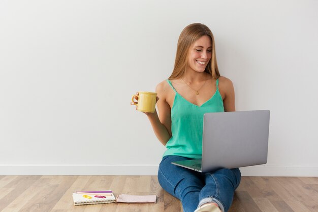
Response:
[{"label": "long straight blonde hair of the seated woman", "polygon": [[181,32],[178,40],[176,60],[174,69],[169,79],[177,79],[183,76],[187,68],[187,56],[190,46],[202,36],[209,36],[212,41],[212,57],[205,68],[205,72],[212,75],[213,79],[218,79],[220,73],[217,68],[214,37],[206,25],[202,23],[193,23],[187,25]]}]

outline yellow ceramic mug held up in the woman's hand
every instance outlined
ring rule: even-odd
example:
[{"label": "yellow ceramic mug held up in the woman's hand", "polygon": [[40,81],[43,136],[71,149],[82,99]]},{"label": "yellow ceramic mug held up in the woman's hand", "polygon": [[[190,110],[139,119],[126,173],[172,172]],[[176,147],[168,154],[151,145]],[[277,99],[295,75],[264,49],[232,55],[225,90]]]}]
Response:
[{"label": "yellow ceramic mug held up in the woman's hand", "polygon": [[[137,105],[137,110],[141,112],[150,112],[153,113],[155,109],[155,102],[157,93],[151,92],[138,92],[139,95],[134,95],[132,102],[134,105]],[[138,97],[138,102],[134,101],[134,98]]]}]

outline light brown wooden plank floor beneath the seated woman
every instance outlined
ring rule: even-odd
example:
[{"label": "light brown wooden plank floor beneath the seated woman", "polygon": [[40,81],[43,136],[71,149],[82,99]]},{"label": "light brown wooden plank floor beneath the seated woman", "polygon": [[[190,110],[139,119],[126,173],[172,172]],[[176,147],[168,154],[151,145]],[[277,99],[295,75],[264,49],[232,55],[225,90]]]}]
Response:
[{"label": "light brown wooden plank floor beneath the seated woman", "polygon": [[[72,192],[113,190],[156,195],[156,204],[109,203],[74,206]],[[0,176],[4,212],[178,212],[180,201],[165,192],[156,176]],[[318,177],[242,177],[231,212],[317,212]]]}]

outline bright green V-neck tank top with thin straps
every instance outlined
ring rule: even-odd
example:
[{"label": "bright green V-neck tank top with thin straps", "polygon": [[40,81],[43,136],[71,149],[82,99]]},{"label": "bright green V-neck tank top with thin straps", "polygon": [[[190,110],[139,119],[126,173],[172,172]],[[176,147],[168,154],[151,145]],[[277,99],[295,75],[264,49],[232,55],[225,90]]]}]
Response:
[{"label": "bright green V-neck tank top with thin straps", "polygon": [[204,113],[224,112],[223,100],[218,90],[218,79],[216,80],[214,95],[201,106],[184,99],[178,94],[169,79],[167,79],[167,82],[176,95],[171,108],[172,137],[166,144],[167,150],[163,157],[175,155],[200,159],[202,157]]}]

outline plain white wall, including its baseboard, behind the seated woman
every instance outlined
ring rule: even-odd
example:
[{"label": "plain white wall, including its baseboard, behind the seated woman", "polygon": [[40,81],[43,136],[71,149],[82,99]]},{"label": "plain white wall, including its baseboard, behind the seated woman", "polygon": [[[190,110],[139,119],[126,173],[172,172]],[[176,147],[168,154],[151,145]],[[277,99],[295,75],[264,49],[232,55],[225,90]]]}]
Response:
[{"label": "plain white wall, including its baseboard, behind the seated woman", "polygon": [[268,163],[318,176],[318,1],[1,1],[0,175],[156,174],[130,105],[171,74],[182,29],[214,33],[237,110],[270,109]]}]

